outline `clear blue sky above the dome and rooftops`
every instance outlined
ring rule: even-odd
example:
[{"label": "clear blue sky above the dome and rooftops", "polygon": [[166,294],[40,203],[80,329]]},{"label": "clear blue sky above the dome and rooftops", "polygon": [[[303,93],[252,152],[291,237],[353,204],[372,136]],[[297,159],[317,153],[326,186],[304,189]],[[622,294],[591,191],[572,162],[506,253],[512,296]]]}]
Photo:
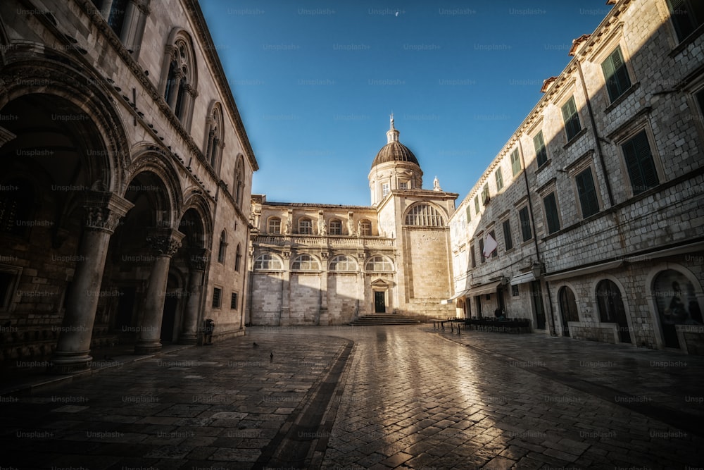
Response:
[{"label": "clear blue sky above the dome and rooftops", "polygon": [[370,204],[389,114],[463,199],[605,0],[201,0],[269,201]]}]

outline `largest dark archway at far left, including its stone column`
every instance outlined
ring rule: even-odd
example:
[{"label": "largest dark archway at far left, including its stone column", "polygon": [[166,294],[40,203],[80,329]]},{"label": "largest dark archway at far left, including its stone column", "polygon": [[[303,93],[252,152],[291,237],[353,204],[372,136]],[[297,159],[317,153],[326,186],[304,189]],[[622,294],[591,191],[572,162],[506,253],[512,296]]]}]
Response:
[{"label": "largest dark archway at far left, including its stone column", "polygon": [[[77,92],[74,102],[46,92],[58,87],[32,93],[18,89],[21,82],[6,82],[0,97],[14,96],[0,111],[0,257],[8,260],[0,268],[1,307],[21,338],[6,359],[53,355],[56,371],[80,371],[92,359],[92,340],[106,340],[106,330],[94,327],[112,293],[100,279],[113,223],[124,214],[115,206],[121,198],[110,192],[120,180],[113,158],[124,136],[115,125],[106,137],[101,125],[110,110],[87,111],[94,96]],[[109,150],[108,140],[115,144]],[[32,284],[42,295],[15,290]],[[31,323],[20,321],[29,314]]]}]

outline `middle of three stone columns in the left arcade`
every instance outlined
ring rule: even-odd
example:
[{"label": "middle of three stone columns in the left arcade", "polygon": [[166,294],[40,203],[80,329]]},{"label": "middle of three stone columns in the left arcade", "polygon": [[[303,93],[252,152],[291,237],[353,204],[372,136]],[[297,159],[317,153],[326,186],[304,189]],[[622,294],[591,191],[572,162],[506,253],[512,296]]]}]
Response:
[{"label": "middle of three stone columns in the left arcade", "polygon": [[139,327],[139,338],[134,354],[151,354],[161,350],[161,319],[164,314],[166,281],[171,256],[181,247],[185,235],[172,228],[157,228],[147,237],[156,259],[151,267],[149,285],[146,287],[144,316]]}]

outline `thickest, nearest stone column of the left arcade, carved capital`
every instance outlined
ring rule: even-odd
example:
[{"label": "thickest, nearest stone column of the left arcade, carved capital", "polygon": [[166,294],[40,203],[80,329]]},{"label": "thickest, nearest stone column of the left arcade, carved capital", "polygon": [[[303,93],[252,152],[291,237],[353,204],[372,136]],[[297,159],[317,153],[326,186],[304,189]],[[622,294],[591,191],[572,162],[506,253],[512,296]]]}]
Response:
[{"label": "thickest, nearest stone column of the left arcade, carved capital", "polygon": [[66,312],[56,351],[51,358],[51,372],[76,373],[90,369],[90,341],[98,307],[108,242],[115,226],[131,202],[110,192],[89,192],[84,207],[87,212],[84,233],[78,247],[78,263],[68,292]]}]

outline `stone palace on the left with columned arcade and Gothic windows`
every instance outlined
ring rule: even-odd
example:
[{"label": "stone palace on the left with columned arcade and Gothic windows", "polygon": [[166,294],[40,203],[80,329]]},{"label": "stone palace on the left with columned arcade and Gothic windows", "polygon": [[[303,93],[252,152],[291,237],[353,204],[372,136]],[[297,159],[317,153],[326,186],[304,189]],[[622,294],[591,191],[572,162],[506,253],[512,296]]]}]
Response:
[{"label": "stone palace on the left with columned arcade and Gothic windows", "polygon": [[195,0],[0,3],[1,359],[244,334],[257,161]]}]

